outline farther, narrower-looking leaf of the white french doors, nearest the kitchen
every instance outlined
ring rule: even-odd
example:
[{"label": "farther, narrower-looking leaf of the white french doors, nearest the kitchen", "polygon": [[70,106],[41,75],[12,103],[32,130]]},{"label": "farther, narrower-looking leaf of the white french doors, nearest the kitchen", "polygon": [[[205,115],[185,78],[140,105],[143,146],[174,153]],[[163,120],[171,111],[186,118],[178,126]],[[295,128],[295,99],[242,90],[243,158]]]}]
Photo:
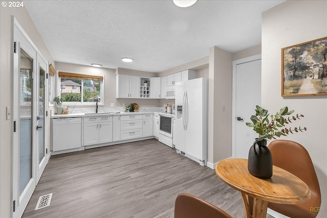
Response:
[{"label": "farther, narrower-looking leaf of the white french doors, nearest the kitchen", "polygon": [[41,178],[42,172],[46,165],[46,143],[45,143],[45,129],[46,129],[46,117],[45,117],[45,102],[46,99],[46,75],[48,73],[48,64],[37,54],[37,76],[36,76],[36,183]]}]

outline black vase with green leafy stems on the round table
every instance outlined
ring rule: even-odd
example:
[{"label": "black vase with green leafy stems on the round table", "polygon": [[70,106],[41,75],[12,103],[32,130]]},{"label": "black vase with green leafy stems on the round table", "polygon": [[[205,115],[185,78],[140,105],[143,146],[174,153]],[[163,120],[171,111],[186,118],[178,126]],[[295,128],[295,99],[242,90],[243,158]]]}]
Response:
[{"label": "black vase with green leafy stems on the round table", "polygon": [[[284,116],[291,115],[294,111],[288,111],[285,106],[275,115],[269,115],[268,111],[263,107],[256,105],[255,115],[251,116],[252,123],[247,122],[246,125],[253,128],[259,134],[253,145],[250,147],[248,156],[248,170],[252,176],[269,179],[272,176],[272,156],[267,145],[267,139],[276,139],[275,137],[288,136],[290,133],[303,132],[306,127],[287,128],[287,124],[292,123],[303,115],[296,115],[285,118]],[[258,145],[258,146],[255,146]]]}]

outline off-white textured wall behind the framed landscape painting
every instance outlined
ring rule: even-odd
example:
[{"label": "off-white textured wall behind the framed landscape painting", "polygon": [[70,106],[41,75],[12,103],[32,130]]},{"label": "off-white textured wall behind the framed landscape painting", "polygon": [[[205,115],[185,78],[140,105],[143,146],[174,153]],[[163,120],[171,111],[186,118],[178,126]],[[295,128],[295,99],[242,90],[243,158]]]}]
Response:
[{"label": "off-white textured wall behind the framed landscape painting", "polygon": [[296,125],[307,132],[284,139],[306,147],[312,158],[322,194],[318,217],[327,214],[327,96],[281,97],[281,49],[325,37],[326,14],[327,1],[286,1],[262,14],[262,106],[305,115]]}]

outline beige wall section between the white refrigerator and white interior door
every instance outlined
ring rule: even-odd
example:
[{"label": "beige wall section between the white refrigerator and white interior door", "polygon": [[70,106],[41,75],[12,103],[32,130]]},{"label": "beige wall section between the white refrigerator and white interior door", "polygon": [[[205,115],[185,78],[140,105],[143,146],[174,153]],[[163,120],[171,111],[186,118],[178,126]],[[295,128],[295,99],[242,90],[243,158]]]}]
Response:
[{"label": "beige wall section between the white refrigerator and white interior door", "polygon": [[208,162],[211,164],[231,157],[231,56],[217,47],[209,49]]}]

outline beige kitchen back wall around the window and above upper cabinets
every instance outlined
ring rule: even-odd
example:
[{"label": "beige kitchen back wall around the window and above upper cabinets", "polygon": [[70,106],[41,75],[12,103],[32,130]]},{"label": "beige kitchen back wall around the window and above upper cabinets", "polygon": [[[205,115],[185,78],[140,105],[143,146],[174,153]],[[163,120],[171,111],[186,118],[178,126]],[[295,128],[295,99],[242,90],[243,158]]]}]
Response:
[{"label": "beige kitchen back wall around the window and above upper cabinets", "polygon": [[[104,107],[110,107],[110,103],[114,103],[114,107],[122,107],[123,103],[128,105],[130,103],[137,103],[140,107],[142,106],[162,106],[160,104],[159,99],[124,99],[118,98],[116,99],[116,70],[109,68],[95,68],[91,66],[84,66],[80,64],[73,63],[63,63],[56,62],[56,70],[57,71],[67,71],[67,72],[75,72],[75,73],[83,73],[89,75],[97,75],[104,76],[105,80],[105,104]],[[133,71],[129,69],[119,68],[120,74],[128,74],[128,75],[136,75],[136,76],[145,76],[145,77],[154,77],[157,76],[156,73],[145,72],[145,71]],[[56,94],[58,96],[58,94]],[[94,106],[83,106],[94,107]],[[69,106],[69,108],[73,108],[73,106]]]}]

